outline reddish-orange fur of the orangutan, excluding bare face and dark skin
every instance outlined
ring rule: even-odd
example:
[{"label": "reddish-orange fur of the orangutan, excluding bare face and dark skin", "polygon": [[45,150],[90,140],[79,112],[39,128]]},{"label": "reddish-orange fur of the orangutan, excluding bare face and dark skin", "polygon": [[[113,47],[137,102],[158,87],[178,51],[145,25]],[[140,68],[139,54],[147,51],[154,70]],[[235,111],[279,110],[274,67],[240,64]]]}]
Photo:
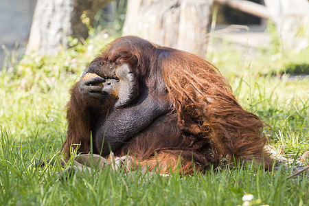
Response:
[{"label": "reddish-orange fur of the orangutan, excluding bare face and dark skin", "polygon": [[[161,53],[166,55],[158,58]],[[156,119],[113,151],[116,156],[130,155],[135,165],[147,165],[148,170],[185,174],[194,168],[202,171],[210,164],[218,165],[220,159],[262,162],[266,144],[263,122],[238,104],[227,80],[211,63],[135,37],[118,38],[94,61],[130,65],[140,88],[155,88],[163,76],[174,104],[174,111]],[[74,90],[71,94],[68,119],[76,120],[69,120],[65,151],[71,144],[80,143],[79,151],[89,152],[91,121],[95,118],[80,112],[84,108],[73,109],[78,104],[74,95],[78,94]],[[268,165],[268,157],[264,158]]]}]

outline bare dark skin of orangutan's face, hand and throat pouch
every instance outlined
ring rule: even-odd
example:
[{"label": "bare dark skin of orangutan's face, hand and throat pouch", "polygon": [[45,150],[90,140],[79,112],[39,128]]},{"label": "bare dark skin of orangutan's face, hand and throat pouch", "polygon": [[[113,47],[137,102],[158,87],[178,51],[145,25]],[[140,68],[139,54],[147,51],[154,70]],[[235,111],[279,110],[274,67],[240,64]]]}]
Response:
[{"label": "bare dark skin of orangutan's face, hand and throat pouch", "polygon": [[[88,99],[89,108],[99,114],[93,120],[93,152],[108,155],[128,139],[144,130],[158,117],[169,113],[170,98],[163,78],[157,80],[155,89],[137,89],[130,65],[94,62],[84,71],[100,77],[80,81],[80,97]],[[162,76],[162,75],[158,75]],[[104,83],[104,88],[93,86]]]}]

